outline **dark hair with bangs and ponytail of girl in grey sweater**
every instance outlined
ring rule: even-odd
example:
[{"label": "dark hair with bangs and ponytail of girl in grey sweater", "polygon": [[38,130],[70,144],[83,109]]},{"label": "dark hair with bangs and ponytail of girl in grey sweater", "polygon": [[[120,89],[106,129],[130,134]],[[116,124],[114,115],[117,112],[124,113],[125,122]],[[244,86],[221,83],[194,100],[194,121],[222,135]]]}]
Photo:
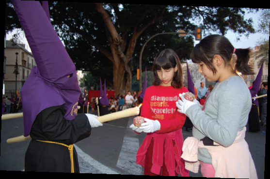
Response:
[{"label": "dark hair with bangs and ponytail of girl in grey sweater", "polygon": [[217,70],[213,65],[213,59],[215,55],[220,55],[225,65],[231,65],[236,73],[241,72],[243,75],[254,75],[252,66],[248,65],[250,49],[236,49],[236,60],[233,60],[233,53],[234,46],[226,37],[222,35],[208,35],[199,44],[195,45],[191,52],[191,60],[193,63],[204,62],[213,74],[216,74]]}]

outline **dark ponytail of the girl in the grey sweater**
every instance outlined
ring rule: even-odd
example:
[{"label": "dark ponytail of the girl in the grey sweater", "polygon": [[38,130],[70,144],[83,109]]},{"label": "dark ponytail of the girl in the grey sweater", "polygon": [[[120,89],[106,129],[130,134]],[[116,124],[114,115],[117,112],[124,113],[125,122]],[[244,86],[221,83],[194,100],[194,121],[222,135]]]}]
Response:
[{"label": "dark ponytail of the girl in the grey sweater", "polygon": [[237,60],[235,62],[235,71],[241,72],[243,75],[254,75],[253,67],[248,64],[249,62],[249,53],[250,49],[242,49],[237,48],[235,50],[235,54],[237,56]]}]

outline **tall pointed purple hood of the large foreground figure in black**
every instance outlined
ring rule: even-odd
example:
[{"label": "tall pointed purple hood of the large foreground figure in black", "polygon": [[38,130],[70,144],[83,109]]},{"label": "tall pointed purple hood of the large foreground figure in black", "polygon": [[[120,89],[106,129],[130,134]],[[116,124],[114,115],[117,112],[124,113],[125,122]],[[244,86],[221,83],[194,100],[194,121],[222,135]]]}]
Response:
[{"label": "tall pointed purple hood of the large foreground figure in black", "polygon": [[[76,68],[49,20],[48,2],[12,0],[36,65],[21,90],[24,136],[46,108],[63,105],[64,116],[77,116],[79,84]],[[45,10],[46,11],[45,11]]]}]

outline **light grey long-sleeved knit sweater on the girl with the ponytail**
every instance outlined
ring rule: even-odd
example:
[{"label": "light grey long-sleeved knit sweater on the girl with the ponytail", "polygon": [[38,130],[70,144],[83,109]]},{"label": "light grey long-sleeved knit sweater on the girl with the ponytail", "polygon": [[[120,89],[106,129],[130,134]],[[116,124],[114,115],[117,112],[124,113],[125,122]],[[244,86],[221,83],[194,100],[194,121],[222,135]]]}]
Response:
[{"label": "light grey long-sleeved knit sweater on the girl with the ponytail", "polygon": [[[237,132],[246,126],[251,106],[251,94],[244,80],[232,76],[216,84],[206,100],[204,111],[199,105],[192,105],[186,113],[194,125],[192,134],[195,138],[207,136],[228,147]],[[207,149],[198,149],[198,159],[211,164]]]}]

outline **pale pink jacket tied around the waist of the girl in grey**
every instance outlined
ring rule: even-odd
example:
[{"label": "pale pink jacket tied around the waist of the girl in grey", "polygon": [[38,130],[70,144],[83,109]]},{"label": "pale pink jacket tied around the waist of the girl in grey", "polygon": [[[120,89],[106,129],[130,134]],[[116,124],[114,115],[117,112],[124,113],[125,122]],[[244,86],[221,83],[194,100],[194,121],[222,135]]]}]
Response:
[{"label": "pale pink jacket tied around the waist of the girl in grey", "polygon": [[208,149],[212,157],[212,165],[215,169],[216,178],[240,178],[257,179],[254,161],[245,141],[246,127],[238,131],[234,143],[229,147],[204,146],[203,141],[194,137],[188,137],[183,144],[181,158],[185,160],[185,168],[198,173],[200,162],[198,161],[198,148]]}]

